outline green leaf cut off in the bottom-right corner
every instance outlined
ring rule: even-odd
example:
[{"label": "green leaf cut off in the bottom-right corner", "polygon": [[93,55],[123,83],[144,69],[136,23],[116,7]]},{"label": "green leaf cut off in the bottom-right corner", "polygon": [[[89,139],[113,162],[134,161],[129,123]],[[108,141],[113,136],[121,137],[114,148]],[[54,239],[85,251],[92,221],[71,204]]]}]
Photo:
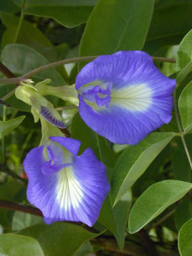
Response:
[{"label": "green leaf cut off in the bottom-right corner", "polygon": [[192,218],[180,228],[178,247],[180,256],[192,255]]}]

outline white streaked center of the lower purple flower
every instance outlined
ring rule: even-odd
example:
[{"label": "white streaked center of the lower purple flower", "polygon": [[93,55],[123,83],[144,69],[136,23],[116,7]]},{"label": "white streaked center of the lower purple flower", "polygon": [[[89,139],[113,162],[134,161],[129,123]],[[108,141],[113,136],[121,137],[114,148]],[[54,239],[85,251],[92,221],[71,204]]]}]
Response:
[{"label": "white streaked center of the lower purple flower", "polygon": [[58,186],[56,187],[56,201],[65,211],[71,207],[76,209],[83,199],[81,184],[76,179],[72,166],[68,166],[58,173]]}]

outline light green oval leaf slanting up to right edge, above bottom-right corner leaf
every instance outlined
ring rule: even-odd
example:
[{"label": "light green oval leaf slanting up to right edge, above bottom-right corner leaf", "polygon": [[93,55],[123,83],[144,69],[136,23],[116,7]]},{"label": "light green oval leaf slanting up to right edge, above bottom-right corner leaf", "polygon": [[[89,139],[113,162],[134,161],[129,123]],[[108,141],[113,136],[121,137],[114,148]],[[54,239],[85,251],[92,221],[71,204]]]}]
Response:
[{"label": "light green oval leaf slanting up to right edge, above bottom-right corner leaf", "polygon": [[131,209],[129,232],[131,234],[138,232],[169,205],[186,195],[191,188],[191,183],[180,180],[163,180],[150,186]]}]

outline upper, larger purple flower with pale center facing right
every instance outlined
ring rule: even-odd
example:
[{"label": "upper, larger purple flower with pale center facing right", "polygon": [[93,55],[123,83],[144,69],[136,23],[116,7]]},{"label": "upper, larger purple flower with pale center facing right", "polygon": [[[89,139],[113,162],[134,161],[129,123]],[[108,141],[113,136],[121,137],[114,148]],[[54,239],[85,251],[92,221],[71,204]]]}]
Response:
[{"label": "upper, larger purple flower with pale center facing right", "polygon": [[99,56],[76,77],[79,114],[109,141],[136,144],[172,119],[175,85],[145,52]]}]

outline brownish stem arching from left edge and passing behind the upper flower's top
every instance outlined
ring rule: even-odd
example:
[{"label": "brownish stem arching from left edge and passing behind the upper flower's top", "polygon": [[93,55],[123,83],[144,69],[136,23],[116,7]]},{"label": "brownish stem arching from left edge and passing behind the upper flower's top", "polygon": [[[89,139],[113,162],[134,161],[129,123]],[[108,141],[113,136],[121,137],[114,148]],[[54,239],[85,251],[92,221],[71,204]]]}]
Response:
[{"label": "brownish stem arching from left edge and passing behind the upper flower's top", "polygon": [[[72,58],[68,60],[61,60],[61,61],[56,61],[53,63],[49,63],[47,65],[44,65],[42,67],[35,68],[34,70],[31,70],[30,72],[24,74],[23,76],[11,78],[11,79],[0,79],[0,83],[4,84],[20,84],[21,81],[24,81],[25,79],[28,79],[31,76],[34,76],[38,72],[41,72],[47,68],[54,68],[58,67],[60,65],[65,65],[68,63],[74,63],[77,61],[87,61],[87,60],[94,60],[99,56],[85,56],[85,57],[79,57],[79,58]],[[161,57],[152,57],[154,61],[165,61],[165,62],[172,62],[175,63],[175,59],[170,59],[170,58],[161,58]]]}]

